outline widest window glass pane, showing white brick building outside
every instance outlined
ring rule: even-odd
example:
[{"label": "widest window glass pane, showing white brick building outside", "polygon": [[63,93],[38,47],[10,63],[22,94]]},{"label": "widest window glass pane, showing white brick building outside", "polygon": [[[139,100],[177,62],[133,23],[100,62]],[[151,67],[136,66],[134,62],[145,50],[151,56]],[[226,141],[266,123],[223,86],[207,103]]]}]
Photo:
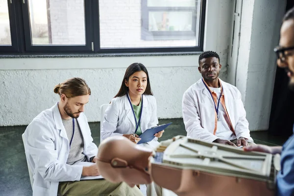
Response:
[{"label": "widest window glass pane, showing white brick building outside", "polygon": [[[159,6],[165,2],[168,7]],[[199,46],[201,0],[184,2],[99,0],[100,48]]]}]

